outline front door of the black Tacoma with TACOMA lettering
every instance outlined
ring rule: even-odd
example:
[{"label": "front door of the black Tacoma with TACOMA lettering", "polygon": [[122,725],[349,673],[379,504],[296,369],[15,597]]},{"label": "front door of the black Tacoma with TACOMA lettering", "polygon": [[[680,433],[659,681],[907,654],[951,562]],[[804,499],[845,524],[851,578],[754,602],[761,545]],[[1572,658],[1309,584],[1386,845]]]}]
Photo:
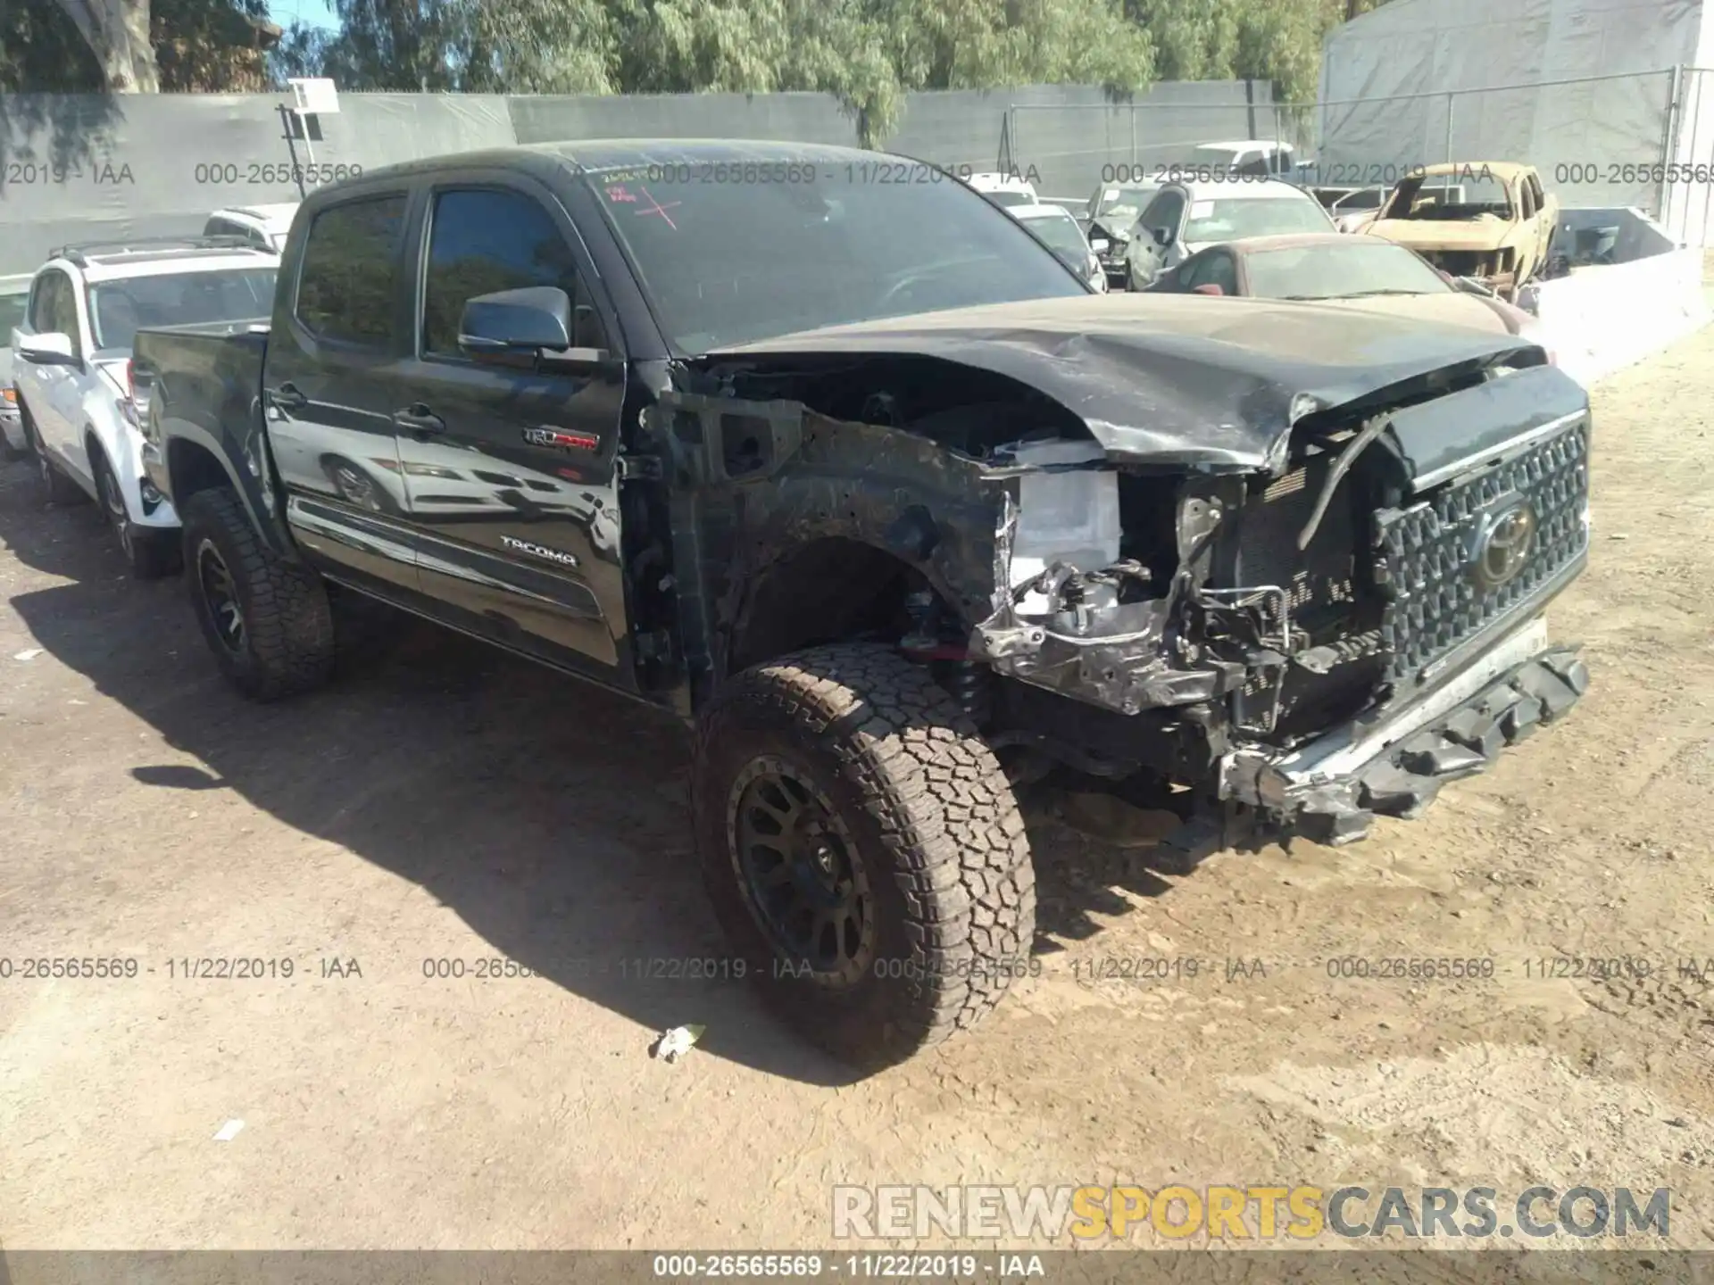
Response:
[{"label": "front door of the black Tacoma with TACOMA lettering", "polygon": [[423,591],[458,613],[454,624],[629,687],[622,367],[478,363],[458,343],[466,300],[557,286],[572,305],[572,346],[617,355],[588,252],[552,192],[516,173],[449,175],[428,194],[425,236],[398,439]]}]

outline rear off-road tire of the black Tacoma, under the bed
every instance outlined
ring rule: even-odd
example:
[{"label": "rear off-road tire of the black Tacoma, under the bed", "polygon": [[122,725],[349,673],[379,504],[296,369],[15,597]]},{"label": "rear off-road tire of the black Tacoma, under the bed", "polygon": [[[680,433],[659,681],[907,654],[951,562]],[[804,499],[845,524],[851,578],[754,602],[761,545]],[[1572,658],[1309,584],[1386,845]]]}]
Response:
[{"label": "rear off-road tire of the black Tacoma, under the bed", "polygon": [[[230,490],[199,490],[185,502],[180,521],[190,601],[226,680],[252,701],[278,701],[327,682],[334,624],[321,577],[267,548]],[[242,608],[237,646],[216,624],[204,588],[202,555],[209,550],[228,571]]]}]

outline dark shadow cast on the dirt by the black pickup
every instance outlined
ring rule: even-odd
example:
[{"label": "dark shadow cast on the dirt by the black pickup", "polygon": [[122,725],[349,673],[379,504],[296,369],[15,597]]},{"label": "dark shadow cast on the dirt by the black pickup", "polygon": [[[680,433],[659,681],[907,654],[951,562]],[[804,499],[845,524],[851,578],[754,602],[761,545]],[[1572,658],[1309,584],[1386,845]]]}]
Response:
[{"label": "dark shadow cast on the dirt by the black pickup", "polygon": [[[422,886],[574,994],[656,1031],[703,1023],[704,1052],[807,1083],[854,1078],[739,982],[636,977],[629,961],[725,954],[691,850],[687,735],[670,718],[405,617],[393,648],[322,692],[254,706],[216,673],[182,581],[130,579],[93,505],[43,509],[27,464],[0,469],[0,540],[69,581],[10,600],[38,644],[206,764],[134,762],[137,783],[235,790]],[[1128,913],[1118,888],[1169,888],[1147,855],[1039,816],[1032,841],[1037,949]]]}]

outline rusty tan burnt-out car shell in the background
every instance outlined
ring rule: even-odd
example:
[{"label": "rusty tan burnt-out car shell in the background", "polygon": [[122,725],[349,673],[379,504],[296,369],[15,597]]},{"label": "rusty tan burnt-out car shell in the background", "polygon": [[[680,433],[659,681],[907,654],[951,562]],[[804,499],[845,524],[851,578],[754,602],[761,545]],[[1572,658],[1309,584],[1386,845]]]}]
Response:
[{"label": "rusty tan burnt-out car shell in the background", "polygon": [[1508,303],[1548,262],[1560,199],[1529,164],[1431,164],[1400,182],[1369,236],[1407,245],[1452,276],[1481,281]]}]

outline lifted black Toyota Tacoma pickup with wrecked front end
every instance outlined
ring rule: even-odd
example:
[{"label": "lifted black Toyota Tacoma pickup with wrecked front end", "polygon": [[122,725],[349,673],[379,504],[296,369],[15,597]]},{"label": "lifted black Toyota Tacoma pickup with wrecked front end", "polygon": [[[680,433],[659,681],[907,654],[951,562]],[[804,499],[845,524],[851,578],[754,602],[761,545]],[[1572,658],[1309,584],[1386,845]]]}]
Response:
[{"label": "lifted black Toyota Tacoma pickup with wrecked front end", "polygon": [[[744,971],[884,1064],[1030,971],[1015,788],[1359,838],[1587,684],[1585,394],[1517,338],[1102,296],[900,158],[418,161],[303,202],[266,332],[142,331],[240,690],[381,598],[679,714]],[[734,968],[734,971],[739,971]]]}]

